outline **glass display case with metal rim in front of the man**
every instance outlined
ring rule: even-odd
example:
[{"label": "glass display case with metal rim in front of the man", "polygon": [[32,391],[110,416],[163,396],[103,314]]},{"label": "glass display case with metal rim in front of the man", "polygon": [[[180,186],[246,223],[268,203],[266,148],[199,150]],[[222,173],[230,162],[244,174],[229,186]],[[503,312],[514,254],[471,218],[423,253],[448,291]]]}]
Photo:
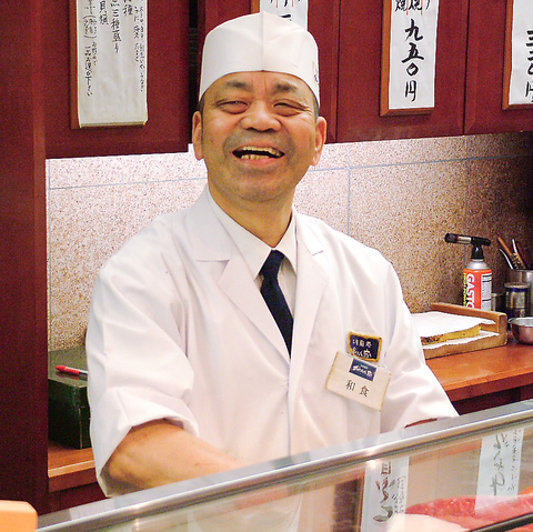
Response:
[{"label": "glass display case with metal rim in front of the man", "polygon": [[42,515],[39,531],[533,531],[533,400]]}]

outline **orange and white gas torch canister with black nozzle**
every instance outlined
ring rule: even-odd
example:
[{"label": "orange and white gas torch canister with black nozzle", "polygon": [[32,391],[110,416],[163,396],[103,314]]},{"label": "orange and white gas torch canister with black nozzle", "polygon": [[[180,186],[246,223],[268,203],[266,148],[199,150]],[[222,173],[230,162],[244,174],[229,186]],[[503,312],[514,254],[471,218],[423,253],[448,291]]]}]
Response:
[{"label": "orange and white gas torch canister with black nozzle", "polygon": [[472,255],[463,270],[463,305],[472,309],[491,310],[492,270],[485,262],[483,245],[491,241],[481,237],[446,233],[450,243],[471,244]]}]

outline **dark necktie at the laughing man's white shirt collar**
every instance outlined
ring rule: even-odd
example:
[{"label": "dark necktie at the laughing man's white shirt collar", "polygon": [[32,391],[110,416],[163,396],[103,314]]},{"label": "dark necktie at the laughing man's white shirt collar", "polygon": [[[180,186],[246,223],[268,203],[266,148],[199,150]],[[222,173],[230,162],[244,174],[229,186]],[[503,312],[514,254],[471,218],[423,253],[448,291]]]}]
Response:
[{"label": "dark necktie at the laughing man's white shirt collar", "polygon": [[274,250],[270,252],[270,255],[264,261],[261,268],[261,273],[263,274],[261,294],[283,334],[290,354],[292,344],[292,314],[278,283],[278,271],[280,270],[283,257],[281,251]]}]

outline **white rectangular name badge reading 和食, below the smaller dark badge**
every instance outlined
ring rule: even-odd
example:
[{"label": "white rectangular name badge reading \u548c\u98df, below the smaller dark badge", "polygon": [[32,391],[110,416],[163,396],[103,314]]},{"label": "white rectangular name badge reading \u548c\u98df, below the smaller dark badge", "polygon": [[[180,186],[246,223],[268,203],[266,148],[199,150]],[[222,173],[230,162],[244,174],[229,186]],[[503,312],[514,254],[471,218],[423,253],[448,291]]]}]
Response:
[{"label": "white rectangular name badge reading \u548c\u98df, below the smaller dark badge", "polygon": [[330,392],[381,410],[391,372],[346,353],[336,353],[325,388]]}]

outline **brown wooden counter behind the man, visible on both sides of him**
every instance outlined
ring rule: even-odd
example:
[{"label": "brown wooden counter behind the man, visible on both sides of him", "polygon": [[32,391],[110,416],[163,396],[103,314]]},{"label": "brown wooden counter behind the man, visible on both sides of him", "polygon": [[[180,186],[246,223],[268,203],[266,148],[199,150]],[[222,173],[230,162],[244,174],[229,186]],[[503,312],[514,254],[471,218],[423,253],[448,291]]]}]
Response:
[{"label": "brown wooden counter behind the man, visible on both sides of him", "polygon": [[[428,365],[460,413],[533,398],[533,345],[512,339],[501,348],[431,359]],[[103,499],[91,449],[50,442],[48,476],[51,512]]]}]

